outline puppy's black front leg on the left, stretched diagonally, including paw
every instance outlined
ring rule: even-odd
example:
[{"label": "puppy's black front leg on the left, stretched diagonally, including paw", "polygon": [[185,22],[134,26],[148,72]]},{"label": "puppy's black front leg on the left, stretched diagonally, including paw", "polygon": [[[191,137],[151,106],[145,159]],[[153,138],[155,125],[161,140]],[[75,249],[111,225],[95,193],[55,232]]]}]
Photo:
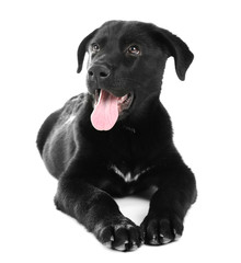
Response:
[{"label": "puppy's black front leg on the left, stretched diagonally, including paw", "polygon": [[57,208],[76,218],[108,248],[131,251],[140,247],[139,227],[123,216],[111,195],[69,175],[59,180]]}]

